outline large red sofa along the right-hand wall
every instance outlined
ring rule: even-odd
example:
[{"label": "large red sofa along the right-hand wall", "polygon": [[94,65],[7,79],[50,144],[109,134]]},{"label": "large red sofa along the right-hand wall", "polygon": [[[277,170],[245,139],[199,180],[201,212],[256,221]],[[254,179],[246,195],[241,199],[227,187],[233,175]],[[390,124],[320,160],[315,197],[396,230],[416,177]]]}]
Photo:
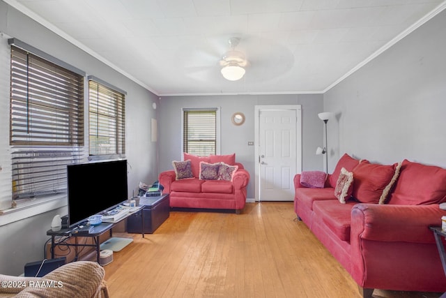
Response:
[{"label": "large red sofa along the right-hand wall", "polygon": [[[353,174],[350,186],[342,184],[345,173]],[[407,160],[376,165],[344,154],[323,188],[300,182],[296,174],[298,219],[351,274],[364,297],[375,288],[446,292],[429,230],[446,215],[439,208],[446,202],[445,169]],[[339,188],[347,192],[344,204],[334,195],[342,193]]]}]

